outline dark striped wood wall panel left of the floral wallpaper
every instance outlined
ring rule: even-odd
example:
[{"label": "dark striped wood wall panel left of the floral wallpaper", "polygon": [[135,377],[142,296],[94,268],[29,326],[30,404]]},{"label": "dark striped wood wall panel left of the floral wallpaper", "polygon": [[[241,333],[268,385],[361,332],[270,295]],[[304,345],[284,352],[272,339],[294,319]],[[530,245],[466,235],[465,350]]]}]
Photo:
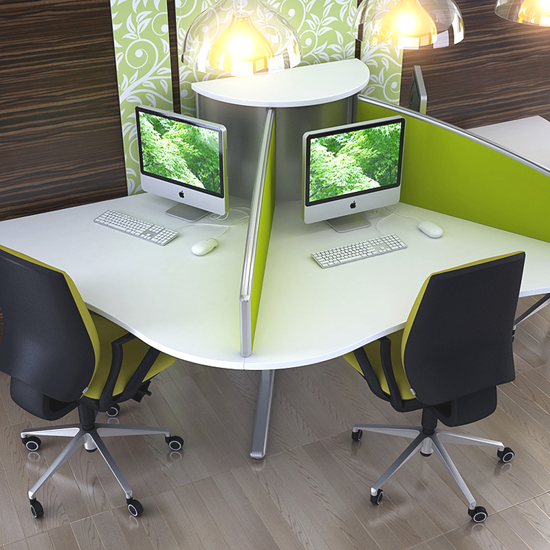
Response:
[{"label": "dark striped wood wall panel left of the floral wallpaper", "polygon": [[0,29],[0,219],[126,195],[109,0],[2,0]]}]

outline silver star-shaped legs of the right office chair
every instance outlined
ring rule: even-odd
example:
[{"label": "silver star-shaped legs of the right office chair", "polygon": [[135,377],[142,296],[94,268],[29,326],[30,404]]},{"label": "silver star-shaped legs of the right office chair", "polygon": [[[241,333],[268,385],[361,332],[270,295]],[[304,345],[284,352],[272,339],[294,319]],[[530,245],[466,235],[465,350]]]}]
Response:
[{"label": "silver star-shaped legs of the right office chair", "polygon": [[[393,475],[399,468],[415,454],[420,451],[423,456],[429,456],[432,452],[435,452],[439,459],[445,464],[450,474],[459,485],[466,500],[468,501],[468,507],[470,511],[476,509],[476,499],[468,489],[465,481],[463,480],[459,470],[456,469],[451,457],[443,447],[443,443],[458,443],[459,445],[481,445],[488,447],[496,447],[498,449],[498,456],[505,462],[511,461],[514,458],[514,452],[505,448],[500,441],[494,441],[492,439],[484,439],[483,437],[474,437],[470,435],[450,432],[448,430],[440,430],[435,428],[434,430],[425,430],[422,426],[385,426],[379,424],[355,424],[352,428],[352,438],[355,441],[360,441],[362,432],[377,432],[386,435],[394,435],[397,437],[407,437],[412,439],[408,447],[399,454],[393,464],[388,467],[388,470],[382,474],[382,476],[371,487],[371,500],[375,500],[380,503],[382,498],[380,497],[380,488],[382,485]],[[426,433],[426,431],[432,431],[432,433]],[[478,507],[481,508],[481,507]],[[470,513],[470,516],[472,514]],[[472,516],[473,517],[473,516]],[[485,513],[486,517],[486,513]],[[474,518],[474,521],[476,519]]]}]

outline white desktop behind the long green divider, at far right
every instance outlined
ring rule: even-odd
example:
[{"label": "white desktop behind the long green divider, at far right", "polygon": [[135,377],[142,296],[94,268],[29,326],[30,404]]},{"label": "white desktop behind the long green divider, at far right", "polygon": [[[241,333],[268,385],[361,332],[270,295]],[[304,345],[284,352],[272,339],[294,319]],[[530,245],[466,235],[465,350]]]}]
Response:
[{"label": "white desktop behind the long green divider, at far right", "polygon": [[479,126],[469,131],[550,170],[550,122],[541,116]]}]

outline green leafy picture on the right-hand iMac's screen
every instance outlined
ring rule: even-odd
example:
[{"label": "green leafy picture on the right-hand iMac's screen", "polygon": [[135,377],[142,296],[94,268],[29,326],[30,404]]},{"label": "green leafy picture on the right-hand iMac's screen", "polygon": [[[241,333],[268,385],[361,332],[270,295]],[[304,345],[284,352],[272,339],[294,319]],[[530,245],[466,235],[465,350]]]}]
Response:
[{"label": "green leafy picture on the right-hand iMac's screen", "polygon": [[309,200],[320,201],[397,184],[401,124],[311,140]]}]

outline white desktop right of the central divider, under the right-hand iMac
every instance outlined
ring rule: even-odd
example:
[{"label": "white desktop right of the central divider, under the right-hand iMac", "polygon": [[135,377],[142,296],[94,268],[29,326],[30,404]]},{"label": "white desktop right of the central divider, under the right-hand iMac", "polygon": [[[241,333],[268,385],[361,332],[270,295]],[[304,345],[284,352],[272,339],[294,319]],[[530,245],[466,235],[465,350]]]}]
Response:
[{"label": "white desktop right of the central divider, under the right-hand iMac", "polygon": [[397,211],[443,228],[430,239],[418,222],[393,215],[380,223],[407,245],[322,270],[310,254],[379,236],[371,227],[337,233],[306,225],[298,202],[276,206],[252,355],[245,369],[283,369],[336,358],[404,327],[425,279],[476,259],[525,250],[521,295],[550,292],[550,243],[400,203]]}]

